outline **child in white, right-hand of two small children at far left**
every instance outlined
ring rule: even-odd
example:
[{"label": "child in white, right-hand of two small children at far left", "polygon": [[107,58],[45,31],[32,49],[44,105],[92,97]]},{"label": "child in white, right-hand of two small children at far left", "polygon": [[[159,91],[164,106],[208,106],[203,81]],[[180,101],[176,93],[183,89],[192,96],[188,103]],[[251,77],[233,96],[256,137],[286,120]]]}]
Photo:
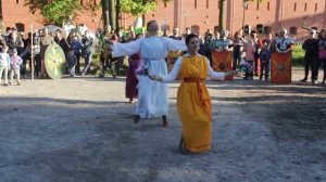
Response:
[{"label": "child in white, right-hand of two small children at far left", "polygon": [[10,80],[9,84],[12,84],[13,77],[16,77],[17,84],[21,86],[21,66],[23,58],[17,55],[17,50],[13,49],[10,56]]}]

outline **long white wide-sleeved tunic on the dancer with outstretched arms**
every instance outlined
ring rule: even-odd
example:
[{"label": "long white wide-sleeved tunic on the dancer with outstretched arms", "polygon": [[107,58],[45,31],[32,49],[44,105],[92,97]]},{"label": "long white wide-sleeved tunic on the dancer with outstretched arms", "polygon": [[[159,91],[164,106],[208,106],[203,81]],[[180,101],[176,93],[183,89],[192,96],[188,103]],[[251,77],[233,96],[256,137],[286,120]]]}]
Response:
[{"label": "long white wide-sleeved tunic on the dancer with outstretched arms", "polygon": [[[127,43],[114,43],[112,56],[140,53],[143,64],[149,66],[152,75],[166,75],[165,57],[168,51],[187,50],[184,40],[165,37],[148,37]],[[152,81],[147,76],[139,76],[138,105],[136,114],[140,118],[154,118],[167,114],[167,86]]]}]

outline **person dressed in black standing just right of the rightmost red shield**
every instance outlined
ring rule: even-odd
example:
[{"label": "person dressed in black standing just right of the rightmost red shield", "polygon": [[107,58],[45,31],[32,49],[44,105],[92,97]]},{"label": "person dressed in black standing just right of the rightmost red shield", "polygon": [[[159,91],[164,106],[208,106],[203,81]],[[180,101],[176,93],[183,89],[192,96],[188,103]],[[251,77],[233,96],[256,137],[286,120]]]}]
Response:
[{"label": "person dressed in black standing just right of the rightmost red shield", "polygon": [[317,32],[315,30],[310,31],[309,38],[303,42],[302,49],[305,51],[304,54],[304,78],[300,81],[306,82],[309,76],[309,67],[311,67],[311,81],[315,83],[317,81],[316,75],[314,74],[314,65],[318,60],[318,40]]}]

